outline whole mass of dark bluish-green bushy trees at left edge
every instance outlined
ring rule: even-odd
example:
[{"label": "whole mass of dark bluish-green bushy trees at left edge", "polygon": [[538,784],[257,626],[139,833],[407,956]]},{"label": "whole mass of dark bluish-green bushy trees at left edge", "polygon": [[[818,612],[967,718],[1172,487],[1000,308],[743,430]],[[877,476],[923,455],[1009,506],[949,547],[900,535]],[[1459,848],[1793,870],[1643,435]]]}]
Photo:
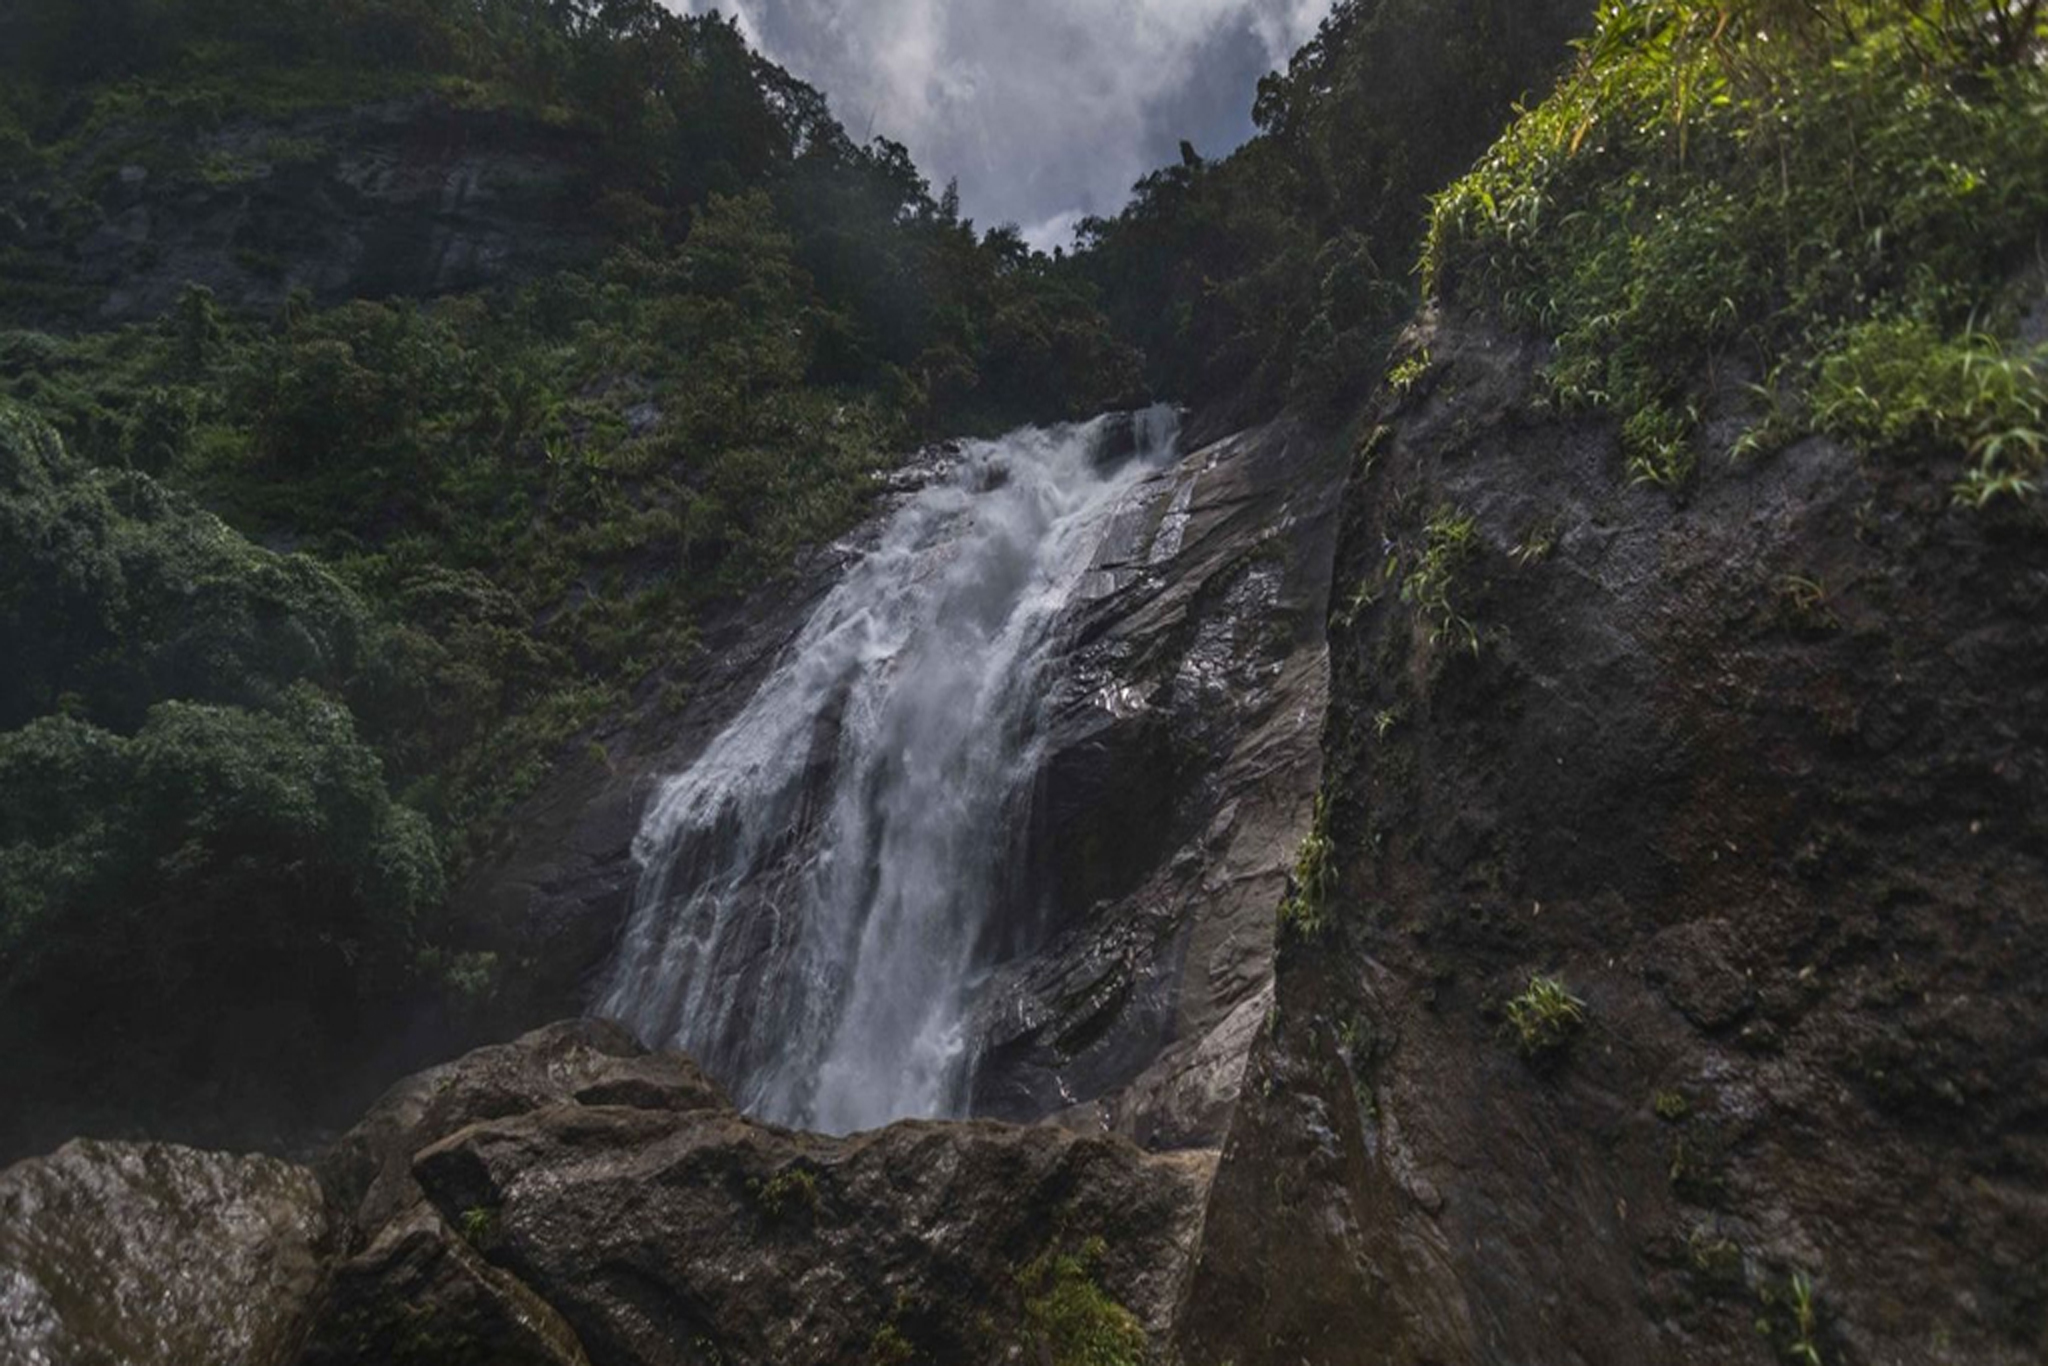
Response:
[{"label": "whole mass of dark bluish-green bushy trees at left edge", "polygon": [[0,1044],[25,1087],[96,1063],[106,1096],[170,1098],[414,975],[440,850],[344,702],[387,711],[408,661],[340,580],[0,405]]}]

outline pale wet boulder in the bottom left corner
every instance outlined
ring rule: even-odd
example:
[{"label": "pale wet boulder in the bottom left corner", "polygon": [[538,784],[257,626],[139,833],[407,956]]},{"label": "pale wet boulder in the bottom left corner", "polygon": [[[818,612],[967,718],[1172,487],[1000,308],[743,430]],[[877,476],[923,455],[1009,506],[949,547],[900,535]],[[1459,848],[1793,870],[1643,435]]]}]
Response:
[{"label": "pale wet boulder in the bottom left corner", "polygon": [[330,1245],[303,1167],[72,1143],[0,1171],[0,1360],[287,1366]]}]

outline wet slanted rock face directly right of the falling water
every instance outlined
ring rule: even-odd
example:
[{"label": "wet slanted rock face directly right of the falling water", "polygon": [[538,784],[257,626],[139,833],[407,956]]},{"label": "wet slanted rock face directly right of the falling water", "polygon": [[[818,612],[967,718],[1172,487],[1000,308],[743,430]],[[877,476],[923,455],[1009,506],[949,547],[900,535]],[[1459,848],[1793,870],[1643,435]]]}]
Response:
[{"label": "wet slanted rock face directly right of the falling water", "polygon": [[1188,455],[1110,532],[1018,887],[1051,934],[987,993],[977,1112],[1221,1139],[1321,774],[1341,475],[1276,424]]}]

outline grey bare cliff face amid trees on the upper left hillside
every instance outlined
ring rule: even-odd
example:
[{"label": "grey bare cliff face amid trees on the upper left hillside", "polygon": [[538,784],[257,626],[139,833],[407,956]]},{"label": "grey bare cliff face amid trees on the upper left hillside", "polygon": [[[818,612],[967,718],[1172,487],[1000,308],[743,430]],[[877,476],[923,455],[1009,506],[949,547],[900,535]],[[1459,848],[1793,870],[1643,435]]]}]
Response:
[{"label": "grey bare cliff face amid trees on the upper left hillside", "polygon": [[[195,139],[193,172],[123,166],[92,203],[39,209],[45,197],[18,197],[18,238],[68,252],[66,287],[84,317],[156,317],[186,283],[256,311],[295,289],[322,301],[434,297],[602,250],[584,188],[592,139],[516,115],[422,94],[236,121]],[[66,184],[98,180],[74,172]]]}]

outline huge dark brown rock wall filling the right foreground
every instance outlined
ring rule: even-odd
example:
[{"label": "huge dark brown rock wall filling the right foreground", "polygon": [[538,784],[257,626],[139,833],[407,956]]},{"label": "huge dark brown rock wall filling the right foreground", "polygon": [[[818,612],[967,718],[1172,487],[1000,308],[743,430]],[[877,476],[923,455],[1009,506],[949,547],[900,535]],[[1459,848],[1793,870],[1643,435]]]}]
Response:
[{"label": "huge dark brown rock wall filling the right foreground", "polygon": [[[1823,440],[1634,487],[1538,348],[1427,346],[1348,494],[1329,930],[1188,1360],[2040,1362],[2038,514]],[[1432,522],[1477,651],[1403,600]],[[1528,1057],[1534,975],[1583,1024]]]}]

